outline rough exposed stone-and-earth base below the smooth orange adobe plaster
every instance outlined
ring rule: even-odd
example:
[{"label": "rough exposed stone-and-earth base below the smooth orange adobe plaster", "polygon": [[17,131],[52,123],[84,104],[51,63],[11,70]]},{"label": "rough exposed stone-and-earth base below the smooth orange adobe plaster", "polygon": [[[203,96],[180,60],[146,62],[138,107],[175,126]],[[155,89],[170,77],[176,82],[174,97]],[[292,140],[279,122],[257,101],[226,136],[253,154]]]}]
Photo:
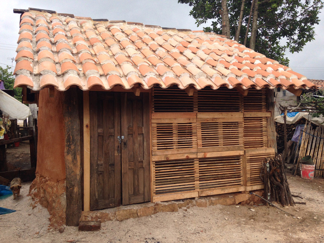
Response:
[{"label": "rough exposed stone-and-earth base below the smooth orange adobe plaster", "polygon": [[52,180],[36,173],[36,178],[29,187],[29,196],[33,200],[33,208],[41,204],[50,213],[50,226],[56,229],[65,225],[65,180]]}]

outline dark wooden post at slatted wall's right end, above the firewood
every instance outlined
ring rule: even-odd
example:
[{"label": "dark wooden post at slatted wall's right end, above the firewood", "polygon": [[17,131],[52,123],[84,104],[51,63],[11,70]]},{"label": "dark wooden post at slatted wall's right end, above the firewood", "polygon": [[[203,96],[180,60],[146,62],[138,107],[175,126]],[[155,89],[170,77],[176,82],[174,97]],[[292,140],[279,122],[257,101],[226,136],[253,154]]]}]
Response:
[{"label": "dark wooden post at slatted wall's right end, above the firewood", "polygon": [[271,112],[271,116],[267,117],[268,147],[274,148],[274,151],[277,153],[277,137],[274,123],[274,97],[271,89],[267,89],[267,111]]}]

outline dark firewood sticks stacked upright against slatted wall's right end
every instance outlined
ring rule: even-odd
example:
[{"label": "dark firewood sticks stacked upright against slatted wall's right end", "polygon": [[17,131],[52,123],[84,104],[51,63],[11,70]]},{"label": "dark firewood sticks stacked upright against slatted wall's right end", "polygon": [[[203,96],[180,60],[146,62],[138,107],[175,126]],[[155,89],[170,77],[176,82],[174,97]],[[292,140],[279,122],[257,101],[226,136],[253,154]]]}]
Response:
[{"label": "dark firewood sticks stacked upright against slatted wall's right end", "polygon": [[265,198],[270,202],[281,203],[283,206],[294,206],[295,202],[289,189],[281,156],[267,157],[266,161],[262,162],[262,167],[260,177],[264,181]]}]

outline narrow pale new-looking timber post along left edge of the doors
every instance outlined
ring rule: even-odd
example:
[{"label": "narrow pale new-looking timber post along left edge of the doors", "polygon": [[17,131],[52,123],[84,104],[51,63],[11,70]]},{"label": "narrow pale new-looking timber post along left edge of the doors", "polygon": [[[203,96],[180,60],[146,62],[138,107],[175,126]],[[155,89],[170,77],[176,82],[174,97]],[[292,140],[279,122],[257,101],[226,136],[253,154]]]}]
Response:
[{"label": "narrow pale new-looking timber post along left edge of the doors", "polygon": [[90,211],[90,103],[89,91],[83,91],[83,210]]}]

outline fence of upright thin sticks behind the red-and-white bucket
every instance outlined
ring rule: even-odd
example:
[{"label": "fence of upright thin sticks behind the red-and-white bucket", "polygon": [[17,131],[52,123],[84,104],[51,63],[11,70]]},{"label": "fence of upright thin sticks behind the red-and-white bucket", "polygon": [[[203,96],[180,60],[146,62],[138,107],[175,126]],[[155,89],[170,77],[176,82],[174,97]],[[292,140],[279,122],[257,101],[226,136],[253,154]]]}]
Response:
[{"label": "fence of upright thin sticks behind the red-and-white bucket", "polygon": [[294,175],[297,174],[301,158],[310,155],[315,164],[314,176],[322,177],[324,170],[324,126],[319,126],[316,129],[312,129],[311,122],[309,122],[308,124],[305,124],[302,133],[303,137]]}]

